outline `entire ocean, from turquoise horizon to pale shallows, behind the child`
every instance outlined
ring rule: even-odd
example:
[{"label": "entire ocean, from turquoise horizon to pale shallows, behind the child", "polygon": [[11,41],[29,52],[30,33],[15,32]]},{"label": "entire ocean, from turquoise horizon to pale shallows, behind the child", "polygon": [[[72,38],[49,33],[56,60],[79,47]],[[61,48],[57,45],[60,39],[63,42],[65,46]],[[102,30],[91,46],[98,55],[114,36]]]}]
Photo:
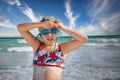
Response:
[{"label": "entire ocean, from turquoise horizon to pale shallows, behind the child", "polygon": [[[73,38],[63,36],[58,43]],[[71,45],[72,47],[72,45]],[[19,37],[0,38],[0,80],[32,80],[32,48]],[[67,55],[63,80],[120,80],[120,35],[89,36]]]}]

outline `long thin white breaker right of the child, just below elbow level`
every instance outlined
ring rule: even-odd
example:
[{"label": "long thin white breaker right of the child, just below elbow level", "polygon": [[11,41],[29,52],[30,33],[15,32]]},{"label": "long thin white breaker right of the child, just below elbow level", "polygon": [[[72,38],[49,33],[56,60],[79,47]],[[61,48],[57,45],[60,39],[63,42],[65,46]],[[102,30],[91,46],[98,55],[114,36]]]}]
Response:
[{"label": "long thin white breaker right of the child, just below elbow level", "polygon": [[115,47],[120,47],[119,43],[86,43],[85,46],[99,46],[99,47],[104,47],[104,46],[115,46]]}]

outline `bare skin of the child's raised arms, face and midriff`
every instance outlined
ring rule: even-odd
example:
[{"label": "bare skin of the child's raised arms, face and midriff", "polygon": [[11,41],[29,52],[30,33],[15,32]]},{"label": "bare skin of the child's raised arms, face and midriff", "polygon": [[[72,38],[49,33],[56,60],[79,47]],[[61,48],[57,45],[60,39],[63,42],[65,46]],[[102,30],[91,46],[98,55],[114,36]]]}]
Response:
[{"label": "bare skin of the child's raised arms, face and midriff", "polygon": [[[22,37],[31,45],[31,47],[33,48],[33,53],[35,53],[35,51],[37,50],[41,42],[38,39],[35,39],[35,37],[29,31],[34,28],[39,28],[39,30],[43,30],[43,29],[49,30],[53,27],[59,30],[62,30],[63,32],[69,34],[70,36],[74,38],[74,40],[72,41],[64,42],[60,44],[63,57],[65,57],[68,52],[75,50],[79,48],[80,46],[82,46],[88,40],[88,37],[86,35],[65,27],[62,24],[62,22],[57,19],[50,20],[50,21],[44,21],[44,22],[22,23],[18,25],[17,29],[19,33],[22,35]],[[48,35],[41,35],[44,41],[43,45],[41,46],[42,50],[46,52],[53,51],[54,43],[55,43],[57,36],[58,36],[58,33],[57,34],[49,33]],[[39,66],[34,66],[33,80],[39,80],[39,79],[36,79],[37,75],[35,75],[36,72],[38,71],[37,70],[38,68]],[[62,73],[61,68],[51,67],[51,66],[42,67],[42,68],[46,68],[46,72],[45,72],[46,79],[45,80],[61,80],[61,73]]]}]

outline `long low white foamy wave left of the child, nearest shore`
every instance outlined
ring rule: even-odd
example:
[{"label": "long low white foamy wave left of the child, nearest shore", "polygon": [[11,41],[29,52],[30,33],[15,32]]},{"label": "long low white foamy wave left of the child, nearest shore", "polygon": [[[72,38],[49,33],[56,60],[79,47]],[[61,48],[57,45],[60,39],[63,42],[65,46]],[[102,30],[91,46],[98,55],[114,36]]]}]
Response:
[{"label": "long low white foamy wave left of the child, nearest shore", "polygon": [[30,52],[32,51],[31,47],[24,46],[24,47],[11,47],[8,48],[9,52]]}]

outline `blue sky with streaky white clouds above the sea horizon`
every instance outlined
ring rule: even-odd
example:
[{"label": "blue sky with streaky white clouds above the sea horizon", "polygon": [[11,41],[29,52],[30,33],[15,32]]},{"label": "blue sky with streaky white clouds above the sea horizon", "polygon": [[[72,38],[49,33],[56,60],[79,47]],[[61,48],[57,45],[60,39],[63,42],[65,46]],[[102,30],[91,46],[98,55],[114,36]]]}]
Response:
[{"label": "blue sky with streaky white clouds above the sea horizon", "polygon": [[18,24],[39,22],[44,16],[88,36],[120,35],[119,4],[120,0],[0,0],[0,37],[20,36]]}]

